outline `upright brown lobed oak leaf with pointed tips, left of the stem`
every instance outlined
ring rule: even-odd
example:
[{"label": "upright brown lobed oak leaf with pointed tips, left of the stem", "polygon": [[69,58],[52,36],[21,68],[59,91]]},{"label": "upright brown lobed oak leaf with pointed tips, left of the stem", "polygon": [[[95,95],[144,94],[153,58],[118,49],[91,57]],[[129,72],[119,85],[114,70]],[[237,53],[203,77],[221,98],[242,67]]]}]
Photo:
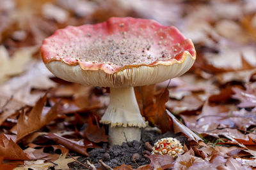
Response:
[{"label": "upright brown lobed oak leaf with pointed tips, left of the stem", "polygon": [[37,131],[41,127],[44,127],[44,125],[49,124],[58,117],[58,107],[60,103],[56,103],[52,106],[51,110],[44,113],[43,108],[46,100],[47,94],[36,102],[34,108],[29,112],[28,117],[26,117],[25,112],[22,111],[17,122],[17,141]]}]

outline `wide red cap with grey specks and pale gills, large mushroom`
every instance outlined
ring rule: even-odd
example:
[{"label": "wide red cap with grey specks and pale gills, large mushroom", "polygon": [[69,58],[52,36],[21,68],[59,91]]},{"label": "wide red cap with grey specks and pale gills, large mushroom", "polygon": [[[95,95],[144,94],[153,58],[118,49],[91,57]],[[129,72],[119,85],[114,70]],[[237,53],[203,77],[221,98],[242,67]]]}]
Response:
[{"label": "wide red cap with grey specks and pale gills, large mushroom", "polygon": [[[138,72],[134,69],[141,70],[143,66],[180,65],[175,66],[174,70],[166,69],[166,71],[173,72],[170,76],[162,76],[160,79],[150,80],[149,83],[168,80],[188,71],[196,56],[191,40],[184,38],[175,27],[160,25],[154,20],[131,17],[113,17],[100,24],[68,26],[65,29],[59,29],[44,40],[40,52],[45,65],[56,76],[86,85],[107,87],[148,84],[148,80],[139,83],[134,81],[134,74]],[[186,64],[185,60],[188,60]],[[72,75],[65,76],[63,73],[58,73],[60,68],[58,71],[55,70],[57,68],[54,69],[60,64],[49,66],[53,61],[64,62],[67,66],[79,66],[79,72],[87,71],[87,73],[70,73]],[[77,72],[77,67],[74,69],[67,66],[63,66],[61,69]],[[129,76],[126,72],[131,69],[134,73]],[[121,73],[116,73],[124,72],[124,70],[126,70],[126,83],[116,83],[118,80],[115,79],[124,79],[120,78]],[[80,74],[88,76],[91,71],[99,71],[99,75],[93,73],[93,76],[108,77],[106,79],[110,79],[111,83],[105,83],[104,80],[99,83],[96,80],[88,82],[74,78],[78,74],[79,76],[81,76]],[[65,71],[65,74],[69,73]],[[113,77],[114,74],[116,74],[115,77]],[[151,74],[151,71],[143,74]],[[156,74],[155,76],[159,77],[160,75]]]}]

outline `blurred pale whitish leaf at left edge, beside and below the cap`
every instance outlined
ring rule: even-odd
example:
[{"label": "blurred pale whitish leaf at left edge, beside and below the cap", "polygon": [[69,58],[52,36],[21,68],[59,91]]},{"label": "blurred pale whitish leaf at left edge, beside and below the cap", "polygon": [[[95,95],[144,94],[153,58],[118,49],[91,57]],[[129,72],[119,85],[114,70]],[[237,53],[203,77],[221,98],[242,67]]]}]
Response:
[{"label": "blurred pale whitish leaf at left edge, beside and below the cap", "polygon": [[45,92],[31,93],[31,89],[47,90],[54,87],[56,83],[49,79],[52,73],[42,61],[33,60],[26,67],[28,67],[26,73],[15,76],[0,85],[0,94],[6,97],[13,96],[13,99],[20,103],[34,106],[36,101],[44,96]]}]

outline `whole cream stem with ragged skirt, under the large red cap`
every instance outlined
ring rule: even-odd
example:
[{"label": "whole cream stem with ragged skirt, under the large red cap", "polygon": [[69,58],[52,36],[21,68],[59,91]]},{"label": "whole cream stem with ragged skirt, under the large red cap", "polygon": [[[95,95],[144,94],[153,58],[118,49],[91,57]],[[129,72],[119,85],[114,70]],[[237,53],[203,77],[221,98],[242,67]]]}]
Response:
[{"label": "whole cream stem with ragged skirt, under the large red cap", "polygon": [[140,128],[146,124],[141,117],[133,87],[110,88],[110,103],[100,122],[110,124],[110,145],[140,140]]}]

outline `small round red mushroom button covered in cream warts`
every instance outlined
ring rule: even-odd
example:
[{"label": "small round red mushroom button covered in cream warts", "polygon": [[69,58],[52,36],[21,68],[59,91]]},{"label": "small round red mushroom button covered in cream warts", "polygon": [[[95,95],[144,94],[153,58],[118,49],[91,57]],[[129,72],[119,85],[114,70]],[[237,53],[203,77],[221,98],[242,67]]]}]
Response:
[{"label": "small round red mushroom button covered in cream warts", "polygon": [[153,147],[152,154],[159,155],[172,155],[177,157],[178,154],[184,153],[182,145],[179,140],[175,138],[162,138],[159,139]]}]

